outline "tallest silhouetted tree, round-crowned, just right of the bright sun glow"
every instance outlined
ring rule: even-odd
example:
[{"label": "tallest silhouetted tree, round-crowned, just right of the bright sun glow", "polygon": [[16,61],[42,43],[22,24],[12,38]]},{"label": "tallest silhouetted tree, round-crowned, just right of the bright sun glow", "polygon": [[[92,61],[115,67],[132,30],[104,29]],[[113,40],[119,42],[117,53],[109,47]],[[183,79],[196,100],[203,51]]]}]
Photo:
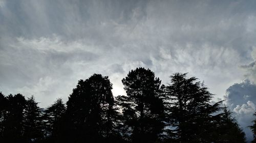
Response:
[{"label": "tallest silhouetted tree, round-crowned, just right of the bright sun glow", "polygon": [[164,127],[159,78],[149,69],[137,68],[122,79],[127,96],[119,96],[122,134],[132,142],[155,142]]}]

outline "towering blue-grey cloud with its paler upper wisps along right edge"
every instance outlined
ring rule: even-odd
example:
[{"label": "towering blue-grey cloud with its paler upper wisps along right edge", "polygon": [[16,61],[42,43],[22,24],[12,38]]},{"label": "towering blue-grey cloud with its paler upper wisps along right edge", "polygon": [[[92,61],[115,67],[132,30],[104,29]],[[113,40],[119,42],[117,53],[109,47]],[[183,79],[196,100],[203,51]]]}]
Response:
[{"label": "towering blue-grey cloud with its paler upper wisps along right edge", "polygon": [[253,62],[240,66],[245,72],[245,80],[241,83],[234,83],[226,90],[225,99],[227,105],[234,112],[239,124],[244,128],[247,138],[252,139],[253,135],[248,126],[252,125],[256,111],[256,49],[251,52]]}]

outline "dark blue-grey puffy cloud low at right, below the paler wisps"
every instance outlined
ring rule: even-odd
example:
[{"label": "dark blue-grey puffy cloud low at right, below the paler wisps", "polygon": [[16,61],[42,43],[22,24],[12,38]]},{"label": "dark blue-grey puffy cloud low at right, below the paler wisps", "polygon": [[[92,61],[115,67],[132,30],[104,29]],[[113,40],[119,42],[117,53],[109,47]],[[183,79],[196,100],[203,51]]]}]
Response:
[{"label": "dark blue-grey puffy cloud low at right, below the paler wisps", "polygon": [[234,112],[247,138],[252,139],[252,132],[248,126],[252,125],[251,121],[255,118],[253,113],[256,109],[256,85],[245,80],[233,84],[226,92],[227,105]]}]

